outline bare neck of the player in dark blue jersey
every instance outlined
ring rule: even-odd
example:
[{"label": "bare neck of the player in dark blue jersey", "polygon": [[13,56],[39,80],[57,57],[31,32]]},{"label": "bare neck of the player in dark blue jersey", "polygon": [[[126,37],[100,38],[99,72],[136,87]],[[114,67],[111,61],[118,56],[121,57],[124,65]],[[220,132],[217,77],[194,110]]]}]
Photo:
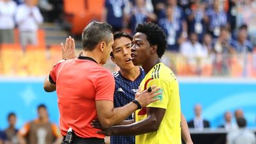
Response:
[{"label": "bare neck of the player in dark blue jersey", "polygon": [[134,67],[131,70],[120,69],[120,72],[126,79],[134,81],[138,76],[140,76],[140,67]]}]

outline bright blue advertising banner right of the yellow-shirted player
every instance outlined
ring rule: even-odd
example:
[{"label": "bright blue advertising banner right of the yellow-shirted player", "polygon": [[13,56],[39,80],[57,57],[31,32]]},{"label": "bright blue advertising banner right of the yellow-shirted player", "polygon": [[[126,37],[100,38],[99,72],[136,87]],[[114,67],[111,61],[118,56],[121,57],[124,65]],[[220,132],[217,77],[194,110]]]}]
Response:
[{"label": "bright blue advertising banner right of the yellow-shirted player", "polygon": [[180,79],[180,102],[187,120],[193,119],[195,104],[201,104],[211,127],[223,124],[224,113],[236,109],[243,109],[249,127],[256,125],[255,79]]}]

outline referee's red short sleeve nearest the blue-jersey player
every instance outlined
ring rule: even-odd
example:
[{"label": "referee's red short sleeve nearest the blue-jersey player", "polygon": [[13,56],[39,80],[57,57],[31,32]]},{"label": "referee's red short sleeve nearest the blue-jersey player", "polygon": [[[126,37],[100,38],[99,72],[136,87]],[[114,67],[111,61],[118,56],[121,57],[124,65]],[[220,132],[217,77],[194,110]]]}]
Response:
[{"label": "referee's red short sleeve nearest the blue-jersey player", "polygon": [[102,70],[99,75],[95,77],[93,85],[96,89],[95,100],[111,100],[113,101],[115,92],[115,79],[111,72]]}]

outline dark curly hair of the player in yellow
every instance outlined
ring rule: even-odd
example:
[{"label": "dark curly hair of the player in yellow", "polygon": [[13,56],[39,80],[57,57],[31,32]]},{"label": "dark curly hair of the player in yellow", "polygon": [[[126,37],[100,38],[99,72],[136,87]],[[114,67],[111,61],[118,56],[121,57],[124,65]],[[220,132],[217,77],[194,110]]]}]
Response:
[{"label": "dark curly hair of the player in yellow", "polygon": [[157,55],[161,58],[167,47],[166,35],[162,28],[157,24],[151,22],[144,22],[143,24],[138,24],[135,29],[135,33],[140,32],[147,35],[147,40],[151,45],[157,45]]}]

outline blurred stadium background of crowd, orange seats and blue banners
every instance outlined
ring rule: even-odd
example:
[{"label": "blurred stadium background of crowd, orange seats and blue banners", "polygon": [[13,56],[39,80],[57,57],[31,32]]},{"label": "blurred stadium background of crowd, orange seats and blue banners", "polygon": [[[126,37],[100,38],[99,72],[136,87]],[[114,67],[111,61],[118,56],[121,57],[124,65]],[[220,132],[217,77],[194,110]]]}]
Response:
[{"label": "blurred stadium background of crowd, orange seats and blue banners", "polygon": [[[168,41],[162,61],[179,77],[188,122],[203,118],[205,128],[218,133],[221,125],[236,127],[240,116],[254,129],[255,12],[254,0],[0,0],[0,129],[8,127],[11,112],[20,129],[37,117],[39,104],[58,124],[56,93],[44,92],[43,82],[61,60],[60,43],[70,35],[80,51],[92,20],[131,35],[141,22],[159,24]],[[111,60],[104,67],[118,70]]]}]

